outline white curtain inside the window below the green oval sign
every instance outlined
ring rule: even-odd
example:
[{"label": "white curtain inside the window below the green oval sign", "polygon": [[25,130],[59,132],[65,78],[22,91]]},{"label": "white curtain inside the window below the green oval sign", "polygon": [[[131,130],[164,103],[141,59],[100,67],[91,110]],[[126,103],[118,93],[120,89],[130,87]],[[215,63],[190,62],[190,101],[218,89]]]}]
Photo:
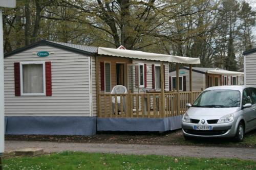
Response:
[{"label": "white curtain inside the window below the green oval sign", "polygon": [[44,93],[42,64],[24,64],[23,93]]}]

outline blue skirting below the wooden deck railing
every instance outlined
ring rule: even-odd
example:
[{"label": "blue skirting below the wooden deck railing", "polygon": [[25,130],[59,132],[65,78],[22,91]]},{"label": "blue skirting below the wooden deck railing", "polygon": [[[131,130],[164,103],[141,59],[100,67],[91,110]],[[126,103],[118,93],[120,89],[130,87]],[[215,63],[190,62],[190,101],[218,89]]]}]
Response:
[{"label": "blue skirting below the wooden deck railing", "polygon": [[98,131],[169,131],[181,128],[182,115],[165,118],[97,118]]}]

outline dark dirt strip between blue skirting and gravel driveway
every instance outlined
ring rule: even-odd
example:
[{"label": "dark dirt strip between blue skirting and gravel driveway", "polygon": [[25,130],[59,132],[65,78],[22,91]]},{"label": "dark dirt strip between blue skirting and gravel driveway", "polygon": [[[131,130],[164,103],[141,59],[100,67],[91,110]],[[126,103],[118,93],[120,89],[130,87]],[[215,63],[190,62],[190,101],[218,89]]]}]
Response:
[{"label": "dark dirt strip between blue skirting and gravel driveway", "polygon": [[243,142],[233,142],[225,138],[198,138],[186,141],[181,130],[164,133],[152,132],[99,132],[93,136],[79,135],[6,135],[6,140],[53,141],[77,143],[130,143],[153,145],[202,145],[216,147],[249,147],[256,148],[256,130],[245,136]]}]

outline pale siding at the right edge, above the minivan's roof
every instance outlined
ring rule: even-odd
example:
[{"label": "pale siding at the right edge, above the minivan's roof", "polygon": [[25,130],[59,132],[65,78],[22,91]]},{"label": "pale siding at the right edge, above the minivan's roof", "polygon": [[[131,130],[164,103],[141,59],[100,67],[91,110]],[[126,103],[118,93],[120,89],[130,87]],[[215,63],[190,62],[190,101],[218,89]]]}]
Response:
[{"label": "pale siding at the right edge, above the minivan's roof", "polygon": [[256,85],[256,53],[245,56],[246,85]]}]

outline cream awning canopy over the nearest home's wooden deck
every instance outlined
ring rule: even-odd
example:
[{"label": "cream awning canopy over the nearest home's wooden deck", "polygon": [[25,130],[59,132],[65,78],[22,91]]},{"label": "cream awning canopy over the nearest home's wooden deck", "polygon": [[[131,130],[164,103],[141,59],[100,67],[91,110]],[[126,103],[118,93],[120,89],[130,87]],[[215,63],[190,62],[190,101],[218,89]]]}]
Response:
[{"label": "cream awning canopy over the nearest home's wooden deck", "polygon": [[172,56],[172,55],[156,54],[156,53],[146,53],[146,52],[133,51],[133,50],[120,50],[120,49],[105,48],[105,47],[99,47],[98,54],[108,55],[108,56],[117,56],[117,57],[127,57],[127,58],[141,59],[141,60],[165,61],[165,62],[184,63],[184,64],[200,64],[199,58],[180,57],[180,56]]}]

